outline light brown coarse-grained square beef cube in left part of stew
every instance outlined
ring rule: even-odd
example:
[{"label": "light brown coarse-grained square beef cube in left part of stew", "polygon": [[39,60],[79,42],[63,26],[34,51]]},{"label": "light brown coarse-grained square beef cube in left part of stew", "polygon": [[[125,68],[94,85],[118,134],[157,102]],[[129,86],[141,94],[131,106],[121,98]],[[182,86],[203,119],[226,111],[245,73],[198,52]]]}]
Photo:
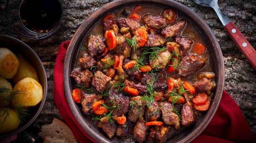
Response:
[{"label": "light brown coarse-grained square beef cube in left part of stew", "polygon": [[111,77],[106,76],[101,71],[96,71],[93,76],[92,85],[96,87],[99,92],[105,92],[108,88],[110,88],[110,81]]}]

